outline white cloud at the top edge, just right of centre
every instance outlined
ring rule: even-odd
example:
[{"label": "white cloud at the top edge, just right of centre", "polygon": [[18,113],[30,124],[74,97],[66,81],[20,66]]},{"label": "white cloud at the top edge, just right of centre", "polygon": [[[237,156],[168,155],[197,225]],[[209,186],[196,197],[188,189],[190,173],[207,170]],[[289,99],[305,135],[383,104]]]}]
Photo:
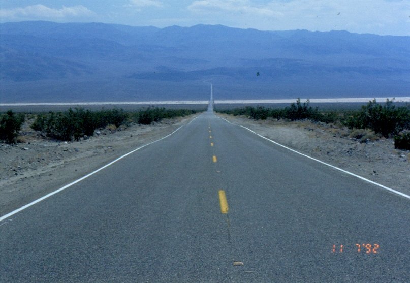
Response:
[{"label": "white cloud at the top edge, just right of centre", "polygon": [[254,14],[268,17],[281,16],[272,9],[264,6],[256,6],[245,0],[198,0],[194,1],[188,10],[195,13],[231,12],[239,14]]}]

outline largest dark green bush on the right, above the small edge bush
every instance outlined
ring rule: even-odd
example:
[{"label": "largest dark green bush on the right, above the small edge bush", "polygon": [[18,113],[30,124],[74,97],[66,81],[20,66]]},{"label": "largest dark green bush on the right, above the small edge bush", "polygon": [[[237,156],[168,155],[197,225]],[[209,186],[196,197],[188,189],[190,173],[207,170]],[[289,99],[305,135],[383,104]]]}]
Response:
[{"label": "largest dark green bush on the right, above the small edge bush", "polygon": [[389,138],[403,129],[410,129],[410,109],[396,108],[391,100],[387,100],[384,106],[373,100],[362,106],[359,112],[348,117],[345,124],[350,129],[367,128]]}]

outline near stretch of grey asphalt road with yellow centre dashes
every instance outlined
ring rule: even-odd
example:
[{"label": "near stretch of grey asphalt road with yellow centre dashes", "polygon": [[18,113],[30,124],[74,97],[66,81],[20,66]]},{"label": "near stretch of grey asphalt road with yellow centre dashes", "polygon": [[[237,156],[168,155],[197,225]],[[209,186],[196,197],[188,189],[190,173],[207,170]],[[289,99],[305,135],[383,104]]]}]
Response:
[{"label": "near stretch of grey asphalt road with yellow centre dashes", "polygon": [[0,222],[0,282],[410,282],[409,216],[208,112]]}]

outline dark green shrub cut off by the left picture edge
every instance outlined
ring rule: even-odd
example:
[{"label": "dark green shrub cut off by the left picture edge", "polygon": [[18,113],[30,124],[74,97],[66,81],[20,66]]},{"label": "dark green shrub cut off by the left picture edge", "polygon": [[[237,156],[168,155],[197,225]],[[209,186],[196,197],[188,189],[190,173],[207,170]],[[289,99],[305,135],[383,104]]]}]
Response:
[{"label": "dark green shrub cut off by the left picture edge", "polygon": [[0,119],[0,141],[9,144],[16,143],[21,124],[24,122],[24,115],[16,115],[9,110]]}]

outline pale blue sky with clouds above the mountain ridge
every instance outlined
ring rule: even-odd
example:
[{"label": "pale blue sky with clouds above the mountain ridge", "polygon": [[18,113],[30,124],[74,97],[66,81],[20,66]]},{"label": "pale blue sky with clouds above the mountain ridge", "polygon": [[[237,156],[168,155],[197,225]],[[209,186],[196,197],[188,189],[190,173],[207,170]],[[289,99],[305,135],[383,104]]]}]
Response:
[{"label": "pale blue sky with clouds above the mountain ridge", "polygon": [[0,21],[223,24],[410,36],[410,0],[0,0]]}]

